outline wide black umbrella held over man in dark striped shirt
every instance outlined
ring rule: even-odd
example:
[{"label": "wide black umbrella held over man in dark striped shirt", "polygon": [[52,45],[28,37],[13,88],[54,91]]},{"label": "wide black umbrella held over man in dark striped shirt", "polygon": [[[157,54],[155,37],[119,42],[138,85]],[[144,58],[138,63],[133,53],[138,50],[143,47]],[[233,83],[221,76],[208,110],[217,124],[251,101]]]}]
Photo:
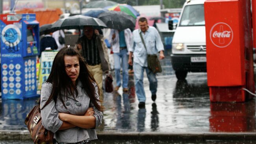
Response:
[{"label": "wide black umbrella held over man in dark striped shirt", "polygon": [[75,15],[63,20],[60,29],[83,29],[84,26],[92,26],[95,29],[103,29],[107,26],[98,18]]}]

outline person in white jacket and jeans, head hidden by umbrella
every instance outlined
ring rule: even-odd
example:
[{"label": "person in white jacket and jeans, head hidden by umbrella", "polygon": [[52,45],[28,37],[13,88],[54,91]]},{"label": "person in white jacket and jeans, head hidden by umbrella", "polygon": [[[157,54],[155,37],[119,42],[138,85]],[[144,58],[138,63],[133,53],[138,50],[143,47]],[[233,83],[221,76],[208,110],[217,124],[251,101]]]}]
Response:
[{"label": "person in white jacket and jeans, head hidden by umbrella", "polygon": [[[110,33],[109,43],[112,46],[114,53],[114,68],[115,68],[115,91],[121,87],[121,65],[122,65],[122,90],[128,92],[128,49],[131,47],[132,32],[130,29],[115,30],[112,29]],[[120,62],[122,61],[122,63]]]}]

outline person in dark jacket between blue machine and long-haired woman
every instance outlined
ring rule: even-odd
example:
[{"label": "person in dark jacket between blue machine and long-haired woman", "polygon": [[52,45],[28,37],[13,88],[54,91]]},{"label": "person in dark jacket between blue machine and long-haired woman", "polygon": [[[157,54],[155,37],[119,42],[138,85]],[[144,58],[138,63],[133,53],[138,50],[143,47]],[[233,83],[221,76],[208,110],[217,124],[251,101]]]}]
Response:
[{"label": "person in dark jacket between blue machine and long-haired woman", "polygon": [[40,40],[40,55],[39,55],[39,58],[41,56],[41,53],[43,51],[45,51],[46,48],[50,48],[52,50],[58,49],[58,45],[57,45],[55,39],[52,38],[52,36],[51,36],[51,31],[45,31],[45,37],[43,37]]}]

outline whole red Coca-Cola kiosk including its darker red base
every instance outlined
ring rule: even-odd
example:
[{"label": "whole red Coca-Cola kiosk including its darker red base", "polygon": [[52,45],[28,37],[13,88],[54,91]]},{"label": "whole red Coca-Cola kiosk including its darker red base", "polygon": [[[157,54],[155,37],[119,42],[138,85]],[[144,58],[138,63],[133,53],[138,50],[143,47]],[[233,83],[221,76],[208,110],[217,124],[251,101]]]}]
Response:
[{"label": "whole red Coca-Cola kiosk including its darker red base", "polygon": [[207,77],[211,102],[244,102],[254,90],[250,0],[206,0]]}]

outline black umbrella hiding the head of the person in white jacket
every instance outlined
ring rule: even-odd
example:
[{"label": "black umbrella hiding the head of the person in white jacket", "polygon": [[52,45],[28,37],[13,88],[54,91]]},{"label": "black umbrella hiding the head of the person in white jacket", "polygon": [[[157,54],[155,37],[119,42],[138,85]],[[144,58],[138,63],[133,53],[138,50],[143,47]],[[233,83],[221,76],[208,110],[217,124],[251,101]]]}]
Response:
[{"label": "black umbrella hiding the head of the person in white jacket", "polygon": [[134,17],[122,11],[106,11],[101,13],[98,18],[106,23],[108,28],[118,30],[134,29],[136,22]]}]

